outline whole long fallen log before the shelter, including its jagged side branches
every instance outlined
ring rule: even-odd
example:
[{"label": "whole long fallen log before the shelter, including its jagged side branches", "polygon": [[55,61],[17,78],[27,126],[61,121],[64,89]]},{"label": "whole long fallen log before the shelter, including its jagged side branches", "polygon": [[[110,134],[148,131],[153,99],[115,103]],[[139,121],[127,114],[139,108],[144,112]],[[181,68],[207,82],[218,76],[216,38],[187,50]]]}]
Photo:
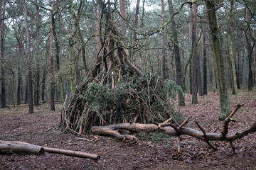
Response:
[{"label": "whole long fallen log before the shelter, including its jagged side branches", "polygon": [[[164,122],[164,123],[154,123],[154,124],[140,124],[140,123],[120,123],[120,124],[114,124],[114,125],[108,125],[108,126],[93,126],[92,127],[92,133],[95,135],[108,135],[117,137],[119,140],[133,140],[136,141],[137,137],[134,135],[130,135],[133,133],[139,133],[139,132],[161,132],[166,135],[176,136],[177,139],[177,147],[178,152],[181,152],[181,145],[180,145],[180,136],[181,135],[189,135],[191,137],[195,137],[199,140],[204,140],[207,142],[207,144],[216,150],[213,145],[210,145],[209,141],[228,141],[230,142],[230,146],[234,150],[234,146],[232,142],[234,140],[240,139],[241,137],[244,137],[245,135],[248,135],[249,133],[256,132],[256,122],[253,123],[250,127],[244,128],[242,130],[238,130],[236,132],[228,133],[228,123],[230,121],[235,121],[231,117],[235,114],[236,111],[238,111],[238,108],[240,108],[242,105],[238,105],[235,110],[230,113],[228,118],[224,121],[223,125],[223,131],[222,132],[206,132],[203,130],[201,125],[199,125],[198,122],[196,122],[196,125],[201,130],[195,130],[193,128],[186,128],[183,126],[188,123],[188,118],[185,120],[181,125],[177,126],[173,123]],[[121,132],[128,132],[128,134],[123,134]]]}]

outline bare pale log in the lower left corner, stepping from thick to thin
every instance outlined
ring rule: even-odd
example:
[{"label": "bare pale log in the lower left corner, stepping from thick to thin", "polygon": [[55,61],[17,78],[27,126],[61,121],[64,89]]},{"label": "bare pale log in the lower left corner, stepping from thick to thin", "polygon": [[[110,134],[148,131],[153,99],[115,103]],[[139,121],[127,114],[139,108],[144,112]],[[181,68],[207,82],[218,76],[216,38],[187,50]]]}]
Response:
[{"label": "bare pale log in the lower left corner, stepping from thick to thin", "polygon": [[44,152],[53,154],[65,154],[72,157],[90,158],[95,160],[100,159],[100,156],[97,154],[89,154],[86,152],[78,152],[73,150],[58,149],[51,147],[41,147],[38,145],[31,145],[26,142],[0,140],[0,154],[43,154]]}]

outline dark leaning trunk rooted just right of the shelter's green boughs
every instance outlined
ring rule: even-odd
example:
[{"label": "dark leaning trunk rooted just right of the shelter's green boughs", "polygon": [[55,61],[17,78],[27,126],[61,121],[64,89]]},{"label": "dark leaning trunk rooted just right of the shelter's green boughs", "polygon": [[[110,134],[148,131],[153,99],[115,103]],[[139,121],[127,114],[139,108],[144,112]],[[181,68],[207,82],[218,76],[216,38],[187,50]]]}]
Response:
[{"label": "dark leaning trunk rooted just right of the shelter's green boughs", "polygon": [[[170,12],[170,16],[172,13],[174,13],[174,8],[173,8],[173,1],[169,0],[168,1],[169,4],[169,12]],[[171,30],[174,36],[174,55],[175,55],[175,64],[176,64],[176,81],[177,84],[179,86],[181,86],[181,88],[184,91],[184,84],[182,81],[182,72],[181,72],[181,56],[180,56],[180,52],[179,52],[179,48],[178,48],[178,33],[176,30],[176,25],[175,25],[175,20],[174,18],[171,21]],[[178,106],[185,106],[185,96],[181,93],[181,91],[178,92]]]}]

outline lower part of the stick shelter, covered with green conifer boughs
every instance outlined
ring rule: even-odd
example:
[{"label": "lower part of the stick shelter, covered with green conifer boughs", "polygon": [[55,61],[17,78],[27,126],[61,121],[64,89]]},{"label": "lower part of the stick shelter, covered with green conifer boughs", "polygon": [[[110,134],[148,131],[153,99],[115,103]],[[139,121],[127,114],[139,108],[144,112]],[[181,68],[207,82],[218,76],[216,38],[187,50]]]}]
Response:
[{"label": "lower part of the stick shelter, covered with green conifer boughs", "polygon": [[177,91],[182,89],[175,82],[152,74],[98,74],[66,98],[62,125],[83,135],[95,125],[161,123],[170,117],[181,122],[182,115],[174,109]]}]

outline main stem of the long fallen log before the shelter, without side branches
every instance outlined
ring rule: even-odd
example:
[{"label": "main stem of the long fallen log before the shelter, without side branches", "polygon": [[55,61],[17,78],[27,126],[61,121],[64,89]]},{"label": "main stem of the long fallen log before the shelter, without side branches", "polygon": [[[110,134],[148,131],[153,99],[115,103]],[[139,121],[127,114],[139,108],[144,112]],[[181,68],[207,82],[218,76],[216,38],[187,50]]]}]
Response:
[{"label": "main stem of the long fallen log before the shelter, without side branches", "polygon": [[122,135],[121,133],[119,133],[119,130],[127,130],[131,133],[161,132],[171,136],[189,135],[191,137],[196,137],[199,140],[233,141],[244,137],[251,132],[256,132],[256,122],[253,123],[251,127],[238,130],[237,132],[233,132],[227,135],[223,135],[223,133],[221,132],[210,132],[204,135],[203,132],[192,128],[180,128],[177,132],[176,130],[174,130],[174,128],[171,128],[171,125],[159,128],[159,126],[154,124],[141,123],[120,123],[115,125],[92,127],[92,133],[95,135],[109,135],[117,137],[117,139],[119,140],[137,140],[134,135]]}]

